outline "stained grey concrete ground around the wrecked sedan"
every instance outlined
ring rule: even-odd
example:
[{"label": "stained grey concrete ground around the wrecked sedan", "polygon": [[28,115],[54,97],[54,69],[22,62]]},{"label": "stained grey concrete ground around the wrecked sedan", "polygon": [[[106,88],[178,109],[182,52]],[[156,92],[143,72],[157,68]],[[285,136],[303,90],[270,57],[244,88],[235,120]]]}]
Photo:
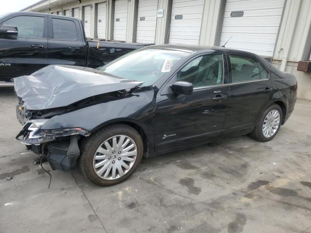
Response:
[{"label": "stained grey concrete ground around the wrecked sedan", "polygon": [[144,159],[111,187],[52,171],[50,189],[14,140],[15,105],[1,89],[0,233],[311,233],[311,102],[298,100],[271,142],[241,136]]}]

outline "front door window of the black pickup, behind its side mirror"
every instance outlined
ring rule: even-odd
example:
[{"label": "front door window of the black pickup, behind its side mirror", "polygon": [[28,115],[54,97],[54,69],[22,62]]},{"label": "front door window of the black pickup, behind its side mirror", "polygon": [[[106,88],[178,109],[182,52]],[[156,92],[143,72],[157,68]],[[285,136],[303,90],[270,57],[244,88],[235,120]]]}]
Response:
[{"label": "front door window of the black pickup, behind its side mirror", "polygon": [[16,26],[17,37],[43,38],[44,17],[17,16],[6,20],[2,25]]}]

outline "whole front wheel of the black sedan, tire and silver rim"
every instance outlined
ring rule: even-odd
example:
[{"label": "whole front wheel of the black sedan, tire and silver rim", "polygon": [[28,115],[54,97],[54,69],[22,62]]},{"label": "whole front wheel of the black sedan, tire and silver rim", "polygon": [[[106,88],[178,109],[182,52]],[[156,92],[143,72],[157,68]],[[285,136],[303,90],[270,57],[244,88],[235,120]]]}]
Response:
[{"label": "whole front wheel of the black sedan, tire and silver rim", "polygon": [[80,169],[92,183],[109,186],[129,178],[140,164],[143,143],[125,124],[104,127],[81,145]]}]

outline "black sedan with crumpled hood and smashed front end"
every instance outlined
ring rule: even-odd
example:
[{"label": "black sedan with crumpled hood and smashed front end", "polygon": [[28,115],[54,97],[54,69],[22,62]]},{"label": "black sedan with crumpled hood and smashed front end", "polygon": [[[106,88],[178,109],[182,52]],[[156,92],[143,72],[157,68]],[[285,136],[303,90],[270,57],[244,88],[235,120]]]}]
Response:
[{"label": "black sedan with crumpled hood and smashed front end", "polygon": [[48,66],[15,79],[17,140],[52,169],[77,163],[91,182],[127,179],[142,156],[250,134],[276,136],[297,82],[253,53],[150,46],[101,67]]}]

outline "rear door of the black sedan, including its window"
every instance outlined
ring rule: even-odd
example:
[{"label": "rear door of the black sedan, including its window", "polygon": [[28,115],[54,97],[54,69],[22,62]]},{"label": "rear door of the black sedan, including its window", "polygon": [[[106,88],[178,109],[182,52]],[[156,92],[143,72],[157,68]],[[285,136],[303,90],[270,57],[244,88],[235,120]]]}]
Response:
[{"label": "rear door of the black sedan, including its window", "polygon": [[239,59],[244,59],[243,57],[235,57],[238,60],[235,60],[231,68],[232,57],[228,56],[229,76],[232,83],[229,84],[230,100],[224,134],[252,129],[260,113],[273,99],[274,84],[269,73],[259,64],[258,68],[253,69],[248,61],[253,62],[254,66],[256,61],[251,58],[244,57],[247,60],[242,62]]}]

